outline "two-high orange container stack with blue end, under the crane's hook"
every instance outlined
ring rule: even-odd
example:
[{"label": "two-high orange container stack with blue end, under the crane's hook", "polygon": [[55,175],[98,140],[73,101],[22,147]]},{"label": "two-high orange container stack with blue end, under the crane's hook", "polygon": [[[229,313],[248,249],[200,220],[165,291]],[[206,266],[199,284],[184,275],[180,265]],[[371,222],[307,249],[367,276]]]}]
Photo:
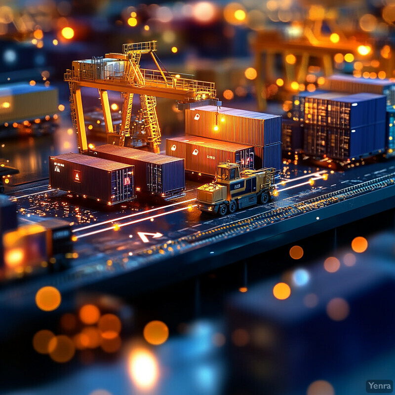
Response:
[{"label": "two-high orange container stack with blue end, under the crane's hook", "polygon": [[227,107],[197,107],[186,110],[185,130],[188,135],[253,146],[256,169],[281,168],[280,116]]}]

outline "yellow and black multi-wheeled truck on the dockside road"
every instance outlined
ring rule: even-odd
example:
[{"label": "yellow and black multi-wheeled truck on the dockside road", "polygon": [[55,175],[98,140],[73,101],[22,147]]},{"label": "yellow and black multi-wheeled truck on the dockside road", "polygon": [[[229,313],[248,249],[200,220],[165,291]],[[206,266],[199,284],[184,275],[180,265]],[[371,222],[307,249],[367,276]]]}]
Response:
[{"label": "yellow and black multi-wheeled truck on the dockside road", "polygon": [[237,163],[219,163],[214,181],[197,188],[197,205],[202,212],[224,216],[266,204],[277,195],[275,173],[272,167],[240,172]]}]

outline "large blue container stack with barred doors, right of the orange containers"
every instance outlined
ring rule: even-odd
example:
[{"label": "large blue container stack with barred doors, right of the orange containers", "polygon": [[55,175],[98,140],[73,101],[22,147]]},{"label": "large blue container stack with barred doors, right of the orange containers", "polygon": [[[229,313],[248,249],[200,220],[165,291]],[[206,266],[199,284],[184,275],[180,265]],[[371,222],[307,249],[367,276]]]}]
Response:
[{"label": "large blue container stack with barred doors, right of the orange containers", "polygon": [[371,93],[306,96],[304,153],[344,161],[384,152],[385,103],[384,95]]}]

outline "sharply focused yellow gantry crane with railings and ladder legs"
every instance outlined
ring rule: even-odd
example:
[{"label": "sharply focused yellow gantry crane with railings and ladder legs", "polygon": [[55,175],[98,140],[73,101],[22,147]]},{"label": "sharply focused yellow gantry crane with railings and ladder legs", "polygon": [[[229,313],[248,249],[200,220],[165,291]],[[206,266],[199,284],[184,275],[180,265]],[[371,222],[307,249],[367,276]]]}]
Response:
[{"label": "sharply focused yellow gantry crane with railings and ladder legs", "polygon": [[[123,44],[122,53],[108,53],[105,58],[92,58],[73,62],[72,70],[65,73],[70,86],[70,108],[73,124],[78,134],[79,151],[87,150],[86,130],[83,117],[81,87],[99,90],[104,123],[109,144],[123,146],[125,138],[134,139],[130,130],[133,95],[140,95],[141,113],[145,127],[138,136],[152,152],[159,152],[160,128],[156,113],[156,97],[177,100],[179,108],[212,104],[219,106],[213,82],[180,78],[159,66],[155,55],[157,41]],[[142,54],[151,54],[158,70],[140,68]],[[121,92],[123,97],[122,120],[114,130],[108,90]],[[140,144],[141,145],[141,144]]]}]

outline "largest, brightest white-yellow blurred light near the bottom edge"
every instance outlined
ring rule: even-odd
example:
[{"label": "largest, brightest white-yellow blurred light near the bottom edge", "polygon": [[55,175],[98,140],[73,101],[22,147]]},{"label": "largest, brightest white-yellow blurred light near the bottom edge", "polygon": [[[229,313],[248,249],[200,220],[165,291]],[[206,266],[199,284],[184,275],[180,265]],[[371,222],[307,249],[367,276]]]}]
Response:
[{"label": "largest, brightest white-yellow blurred light near the bottom edge", "polygon": [[149,351],[134,350],[129,357],[129,373],[133,383],[143,390],[152,389],[159,376],[158,362]]}]

